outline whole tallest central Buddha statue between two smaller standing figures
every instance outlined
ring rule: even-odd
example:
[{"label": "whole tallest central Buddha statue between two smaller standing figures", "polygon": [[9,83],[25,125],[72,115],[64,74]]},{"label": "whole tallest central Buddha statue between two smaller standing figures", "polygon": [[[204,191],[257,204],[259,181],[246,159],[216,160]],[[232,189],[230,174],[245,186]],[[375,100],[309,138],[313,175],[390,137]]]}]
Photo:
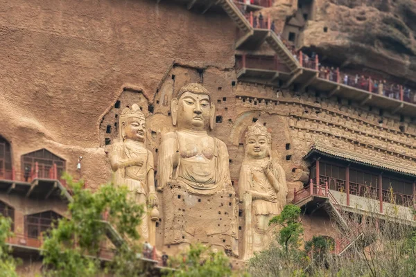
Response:
[{"label": "whole tallest central Buddha statue between two smaller standing figures", "polygon": [[209,91],[187,84],[171,100],[175,132],[162,137],[159,189],[164,195],[164,244],[201,242],[238,255],[237,211],[223,141],[209,136],[215,107]]}]

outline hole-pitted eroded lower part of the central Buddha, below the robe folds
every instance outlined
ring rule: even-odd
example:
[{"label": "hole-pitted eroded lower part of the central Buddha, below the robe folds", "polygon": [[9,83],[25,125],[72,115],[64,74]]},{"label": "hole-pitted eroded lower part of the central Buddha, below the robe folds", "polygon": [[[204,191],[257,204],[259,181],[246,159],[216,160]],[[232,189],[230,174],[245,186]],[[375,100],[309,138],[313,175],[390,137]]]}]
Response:
[{"label": "hole-pitted eroded lower part of the central Buddha, below the robe folds", "polygon": [[238,256],[237,204],[234,190],[195,195],[184,186],[166,186],[164,246],[173,251],[200,243]]}]

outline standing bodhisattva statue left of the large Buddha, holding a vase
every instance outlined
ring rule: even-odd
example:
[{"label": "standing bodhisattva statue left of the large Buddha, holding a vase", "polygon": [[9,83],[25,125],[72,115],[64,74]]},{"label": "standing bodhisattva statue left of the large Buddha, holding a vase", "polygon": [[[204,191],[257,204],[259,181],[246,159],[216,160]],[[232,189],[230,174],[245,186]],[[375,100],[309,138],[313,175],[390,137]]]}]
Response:
[{"label": "standing bodhisattva statue left of the large Buddha, holding a vase", "polygon": [[[120,138],[111,145],[110,163],[113,170],[113,184],[127,186],[129,197],[144,206],[139,234],[141,242],[155,245],[155,221],[158,220],[157,195],[153,154],[146,149],[146,118],[137,104],[121,111],[119,120]],[[148,206],[152,207],[151,214]],[[150,215],[150,216],[149,216]]]}]

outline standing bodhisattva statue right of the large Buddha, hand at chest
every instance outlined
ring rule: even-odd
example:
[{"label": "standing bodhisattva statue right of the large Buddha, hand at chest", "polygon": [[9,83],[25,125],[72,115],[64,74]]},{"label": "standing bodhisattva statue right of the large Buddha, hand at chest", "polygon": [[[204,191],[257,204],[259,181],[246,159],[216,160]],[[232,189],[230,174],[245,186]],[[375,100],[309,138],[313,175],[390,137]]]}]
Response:
[{"label": "standing bodhisattva statue right of the large Buddha, hand at chest", "polygon": [[272,238],[269,220],[286,205],[288,187],[281,166],[271,157],[271,135],[254,123],[245,134],[245,159],[241,166],[239,191],[245,211],[243,259],[263,250]]}]

